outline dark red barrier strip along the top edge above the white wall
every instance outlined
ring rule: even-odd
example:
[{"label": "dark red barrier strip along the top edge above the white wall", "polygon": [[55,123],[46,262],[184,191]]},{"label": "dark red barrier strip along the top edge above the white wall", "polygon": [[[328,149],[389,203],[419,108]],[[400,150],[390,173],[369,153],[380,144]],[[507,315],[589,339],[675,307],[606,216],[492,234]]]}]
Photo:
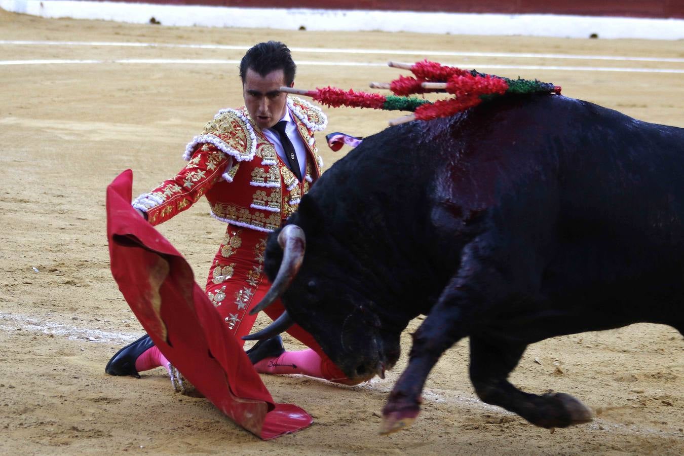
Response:
[{"label": "dark red barrier strip along the top edge above the white wall", "polygon": [[[131,0],[109,0],[128,1]],[[419,12],[575,14],[579,16],[627,16],[684,18],[683,0],[424,0],[420,8],[412,0],[144,0],[133,3],[211,5],[239,8],[316,8],[327,10],[392,10]]]}]

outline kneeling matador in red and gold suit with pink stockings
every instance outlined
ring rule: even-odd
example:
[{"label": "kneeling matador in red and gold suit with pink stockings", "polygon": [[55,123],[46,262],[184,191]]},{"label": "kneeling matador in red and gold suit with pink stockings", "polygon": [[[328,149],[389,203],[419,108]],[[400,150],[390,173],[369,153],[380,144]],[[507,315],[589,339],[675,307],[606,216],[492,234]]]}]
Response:
[{"label": "kneeling matador in red and gold suit with pink stockings", "polygon": [[[219,111],[187,145],[183,170],[133,201],[133,207],[157,225],[205,196],[211,215],[228,224],[205,291],[240,343],[257,318],[249,311],[270,286],[263,271],[267,234],[297,209],[321,173],[314,133],[326,127],[326,116],[279,90],[294,85],[295,69],[285,44],[253,46],[240,63],[245,106]],[[282,311],[280,302],[265,310],[272,319]],[[248,355],[258,372],[301,373],[348,383],[311,335],[298,325],[288,332],[311,348],[284,351],[279,336],[257,343]],[[157,366],[171,371],[149,336],[143,336],[118,351],[105,371],[138,376]]]}]

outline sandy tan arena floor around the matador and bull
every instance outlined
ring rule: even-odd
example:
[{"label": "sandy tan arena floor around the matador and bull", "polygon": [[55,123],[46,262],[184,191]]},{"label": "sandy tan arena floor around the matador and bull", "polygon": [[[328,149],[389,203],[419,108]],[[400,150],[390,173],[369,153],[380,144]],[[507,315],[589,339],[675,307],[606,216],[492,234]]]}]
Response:
[{"label": "sandy tan arena floor around the matador and bull", "polygon": [[[44,20],[0,11],[0,40],[249,46],[267,39],[293,47],[405,51],[298,51],[297,62],[382,64],[427,57],[509,77],[537,77],[562,85],[567,96],[650,122],[684,126],[681,72],[484,65],[681,71],[682,42],[167,28]],[[655,60],[458,57],[421,50]],[[467,377],[467,341],[448,351],[434,369],[415,425],[389,436],[377,434],[380,410],[405,358],[386,379],[353,388],[298,376],[263,377],[276,400],[296,403],[315,418],[310,428],[271,442],[237,427],[205,399],[174,394],[161,369],[142,379],[105,375],[109,357],[142,334],[109,273],[105,187],[128,167],[135,173],[135,194],[172,176],[183,166],[185,144],[215,111],[241,104],[237,64],[112,61],[239,59],[243,53],[0,44],[0,61],[105,61],[0,66],[0,453],[684,454],[684,343],[678,332],[660,325],[553,338],[529,348],[512,375],[515,384],[529,392],[568,392],[596,412],[593,423],[554,433],[475,397]],[[397,74],[382,66],[300,64],[297,85],[363,89],[369,81],[389,81]],[[352,109],[328,113],[328,131],[356,135],[379,131],[396,117]],[[326,165],[342,155],[327,150]],[[204,283],[224,230],[207,215],[205,203],[159,230],[187,256],[198,282]],[[265,320],[260,317],[258,324]],[[295,348],[292,340],[286,342]],[[406,352],[408,340],[404,342]]]}]

